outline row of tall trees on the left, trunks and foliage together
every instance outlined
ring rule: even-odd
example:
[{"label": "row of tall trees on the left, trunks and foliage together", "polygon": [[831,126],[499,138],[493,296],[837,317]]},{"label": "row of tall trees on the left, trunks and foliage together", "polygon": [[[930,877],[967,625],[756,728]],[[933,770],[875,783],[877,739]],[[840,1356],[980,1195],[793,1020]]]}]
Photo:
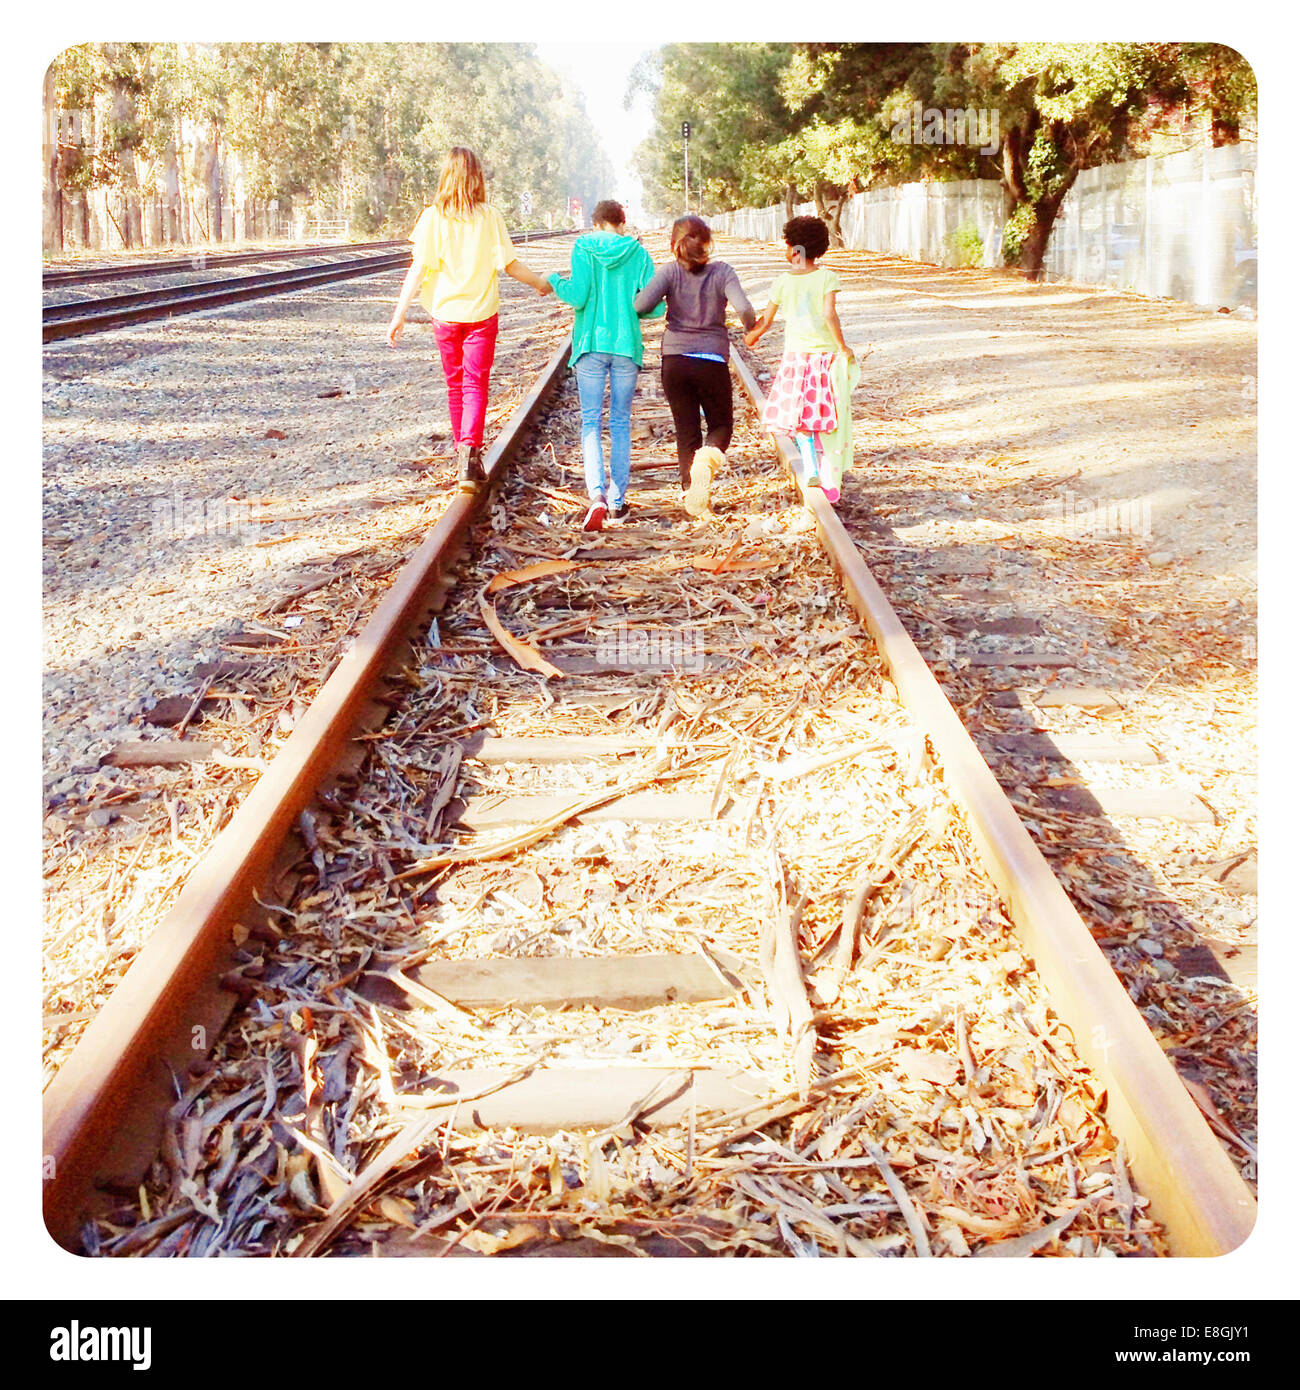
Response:
[{"label": "row of tall trees on the left, trunks and foliage together", "polygon": [[273,235],[307,211],[403,232],[452,145],[478,152],[512,227],[613,183],[531,44],[85,43],[44,100],[47,252]]}]

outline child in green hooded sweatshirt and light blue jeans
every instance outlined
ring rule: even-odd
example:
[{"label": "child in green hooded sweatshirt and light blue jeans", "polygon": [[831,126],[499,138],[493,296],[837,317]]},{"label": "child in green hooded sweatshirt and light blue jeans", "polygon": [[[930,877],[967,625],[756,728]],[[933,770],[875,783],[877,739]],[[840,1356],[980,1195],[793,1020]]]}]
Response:
[{"label": "child in green hooded sweatshirt and light blue jeans", "polygon": [[[649,284],[655,263],[634,238],[624,236],[627,218],[619,203],[596,203],[592,231],[573,245],[569,274],[548,275],[551,288],[576,310],[570,361],[583,407],[583,468],[591,506],[584,531],[599,531],[627,520],[631,478],[631,406],[641,368],[641,321],[633,300]],[[665,306],[647,317],[662,314]],[[609,382],[609,484],[601,442],[605,384]]]}]

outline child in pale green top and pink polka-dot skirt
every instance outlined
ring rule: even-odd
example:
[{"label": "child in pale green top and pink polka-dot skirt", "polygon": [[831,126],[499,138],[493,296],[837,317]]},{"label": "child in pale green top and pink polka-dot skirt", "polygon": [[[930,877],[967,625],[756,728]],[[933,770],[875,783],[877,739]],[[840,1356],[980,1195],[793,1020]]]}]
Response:
[{"label": "child in pale green top and pink polka-dot skirt", "polygon": [[848,435],[851,441],[847,374],[854,353],[844,342],[836,313],[840,277],[818,265],[830,246],[820,217],[793,217],[784,238],[791,270],[777,275],[770,302],[745,334],[745,345],[752,348],[772,327],[777,310],[784,313],[786,350],[767,392],[763,424],[794,435],[804,486],[819,486],[830,502],[838,502],[843,460],[829,456],[819,460],[818,446],[830,436]]}]

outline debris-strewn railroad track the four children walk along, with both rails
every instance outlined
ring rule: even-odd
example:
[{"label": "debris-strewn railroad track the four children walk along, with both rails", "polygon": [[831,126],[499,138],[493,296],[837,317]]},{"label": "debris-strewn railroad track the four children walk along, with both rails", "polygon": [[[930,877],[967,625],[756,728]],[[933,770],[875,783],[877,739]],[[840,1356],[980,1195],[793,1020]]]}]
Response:
[{"label": "debris-strewn railroad track the four children walk along, with both rails", "polygon": [[583,535],[566,356],[50,1084],[56,1238],[1240,1244],[1249,1190],[820,493],[751,411],[681,523],[644,384],[634,524]]}]

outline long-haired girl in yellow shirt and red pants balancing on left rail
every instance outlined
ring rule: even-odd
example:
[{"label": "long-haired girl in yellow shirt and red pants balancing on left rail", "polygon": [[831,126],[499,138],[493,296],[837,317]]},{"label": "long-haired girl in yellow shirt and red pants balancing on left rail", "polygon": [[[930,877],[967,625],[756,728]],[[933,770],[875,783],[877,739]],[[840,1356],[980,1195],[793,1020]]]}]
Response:
[{"label": "long-haired girl in yellow shirt and red pants balancing on left rail", "polygon": [[516,260],[505,218],[488,206],[478,156],[456,146],[446,157],[438,193],[420,214],[410,270],[388,325],[396,348],[410,302],[434,321],[438,354],[446,377],[446,402],[456,442],[460,488],[473,492],[484,481],[482,425],[488,413],[488,377],[496,354],[498,271],[549,295],[551,285]]}]

